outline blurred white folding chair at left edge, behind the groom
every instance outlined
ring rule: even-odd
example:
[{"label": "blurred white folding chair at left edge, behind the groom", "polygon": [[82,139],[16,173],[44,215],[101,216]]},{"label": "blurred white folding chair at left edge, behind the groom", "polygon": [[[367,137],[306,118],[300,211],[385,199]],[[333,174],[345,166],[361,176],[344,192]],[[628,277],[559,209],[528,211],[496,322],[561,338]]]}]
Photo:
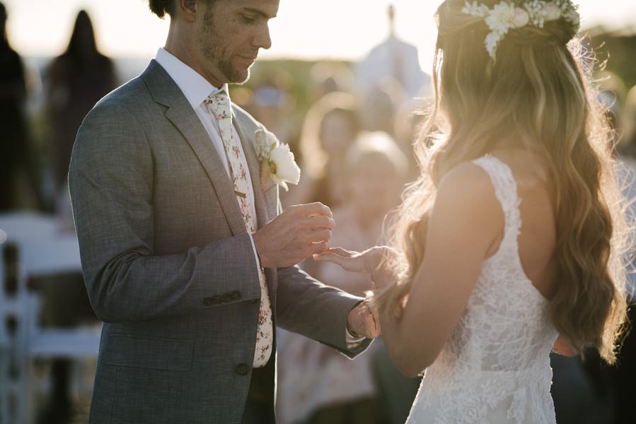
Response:
[{"label": "blurred white folding chair at left edge, behind the groom", "polygon": [[[59,231],[59,218],[34,213],[0,215],[0,235],[3,253],[17,251],[17,261],[8,264],[11,270],[0,261],[0,423],[31,423],[35,418],[30,404],[33,360],[96,358],[100,329],[38,325],[42,300],[29,291],[29,278],[81,271],[76,237]],[[13,287],[7,278],[13,280]]]}]

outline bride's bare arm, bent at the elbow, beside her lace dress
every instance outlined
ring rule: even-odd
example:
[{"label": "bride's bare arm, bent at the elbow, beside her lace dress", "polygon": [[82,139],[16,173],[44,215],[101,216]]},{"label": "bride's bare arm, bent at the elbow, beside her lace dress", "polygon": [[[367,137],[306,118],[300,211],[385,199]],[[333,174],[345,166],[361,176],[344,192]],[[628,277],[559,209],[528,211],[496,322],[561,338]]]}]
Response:
[{"label": "bride's bare arm, bent at the elbow, beside her lace dress", "polygon": [[426,253],[402,319],[380,316],[384,344],[407,376],[439,355],[459,322],[482,261],[500,239],[504,216],[487,175],[461,165],[440,182],[429,218]]}]

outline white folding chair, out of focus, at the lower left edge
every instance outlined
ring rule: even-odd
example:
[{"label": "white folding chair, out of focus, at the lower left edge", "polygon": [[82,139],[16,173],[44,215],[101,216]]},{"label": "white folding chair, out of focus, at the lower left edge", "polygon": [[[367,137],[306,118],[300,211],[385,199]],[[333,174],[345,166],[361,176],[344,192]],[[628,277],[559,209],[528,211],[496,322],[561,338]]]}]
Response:
[{"label": "white folding chair, out of focus, at the lower left edge", "polygon": [[[53,358],[80,360],[97,357],[100,326],[73,329],[40,327],[42,300],[37,293],[30,293],[27,287],[26,282],[32,277],[81,272],[76,237],[62,235],[57,228],[55,217],[33,213],[0,216],[0,229],[6,231],[9,242],[14,242],[18,246],[23,270],[18,283],[18,293],[10,300],[1,302],[4,307],[0,307],[0,310],[5,311],[3,317],[5,313],[13,314],[18,323],[16,334],[6,338],[9,345],[8,362],[11,363],[13,360],[13,366],[18,370],[18,378],[15,381],[3,378],[8,382],[8,387],[6,391],[2,391],[0,398],[6,397],[7,404],[9,404],[9,396],[15,396],[16,399],[16,411],[12,414],[15,420],[9,421],[7,418],[7,423],[33,422],[35,411],[29,405],[33,400],[33,360]],[[4,272],[1,275],[4,276]],[[0,338],[1,336],[0,334]],[[4,366],[1,358],[0,366]],[[6,367],[8,373],[11,365]],[[7,395],[4,396],[4,393]],[[0,399],[0,408],[2,408],[2,402],[3,399]],[[2,408],[2,411],[5,409]],[[1,414],[2,412],[0,412],[0,418]],[[4,422],[1,423],[4,424]]]}]

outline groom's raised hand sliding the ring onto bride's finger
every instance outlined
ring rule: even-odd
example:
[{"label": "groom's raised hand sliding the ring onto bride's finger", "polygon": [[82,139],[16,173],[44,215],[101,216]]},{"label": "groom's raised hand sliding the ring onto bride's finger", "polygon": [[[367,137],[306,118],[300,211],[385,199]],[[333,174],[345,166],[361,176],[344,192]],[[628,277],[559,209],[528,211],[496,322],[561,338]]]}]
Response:
[{"label": "groom's raised hand sliding the ring onto bride's finger", "polygon": [[329,248],[335,227],[330,208],[321,204],[289,206],[254,233],[263,268],[285,268]]}]

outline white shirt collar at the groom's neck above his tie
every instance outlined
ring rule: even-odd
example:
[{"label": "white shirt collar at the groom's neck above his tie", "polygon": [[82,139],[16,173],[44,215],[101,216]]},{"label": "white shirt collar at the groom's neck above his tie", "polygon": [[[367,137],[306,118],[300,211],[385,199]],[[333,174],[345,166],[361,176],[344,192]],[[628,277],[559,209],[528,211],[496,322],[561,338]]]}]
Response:
[{"label": "white shirt collar at the groom's neck above his tie", "polygon": [[157,51],[155,60],[166,70],[170,78],[180,88],[190,103],[192,109],[197,109],[205,99],[210,95],[216,94],[224,90],[229,97],[228,85],[224,84],[221,88],[214,87],[207,79],[203,78],[200,73],[187,66],[180,61],[168,50],[160,47]]}]

